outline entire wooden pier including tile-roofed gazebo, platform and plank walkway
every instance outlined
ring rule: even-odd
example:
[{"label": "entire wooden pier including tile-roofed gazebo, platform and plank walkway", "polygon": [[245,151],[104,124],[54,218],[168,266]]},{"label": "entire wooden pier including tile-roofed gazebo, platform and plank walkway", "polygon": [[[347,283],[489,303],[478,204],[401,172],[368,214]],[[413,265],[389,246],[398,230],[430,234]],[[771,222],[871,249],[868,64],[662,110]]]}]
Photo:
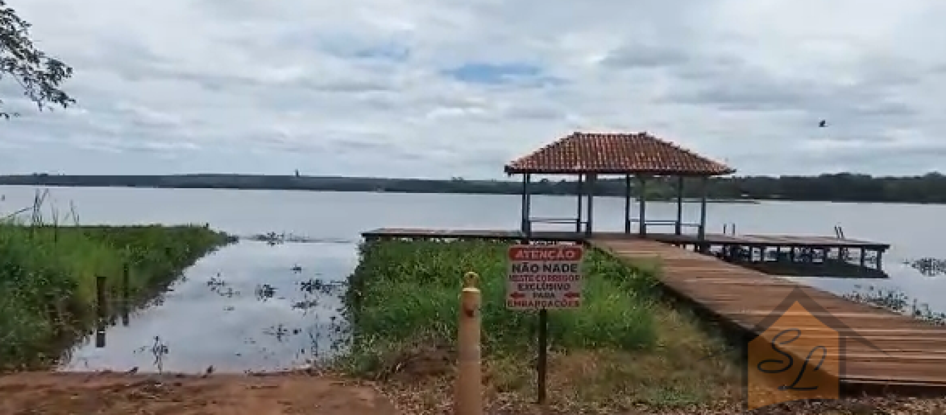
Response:
[{"label": "entire wooden pier including tile-roofed gazebo, platform and plank walkway", "polygon": [[[362,233],[376,239],[489,239],[528,243],[583,243],[622,260],[658,258],[659,280],[668,292],[696,306],[715,320],[749,337],[762,337],[766,328],[784,327],[815,332],[818,339],[840,335],[840,352],[825,353],[838,362],[829,373],[844,390],[868,393],[946,393],[946,328],[907,316],[854,303],[791,280],[749,269],[774,263],[795,266],[855,264],[858,269],[882,273],[882,257],[889,244],[845,237],[840,226],[834,236],[760,235],[707,232],[707,197],[710,177],[735,172],[725,164],[677,147],[647,133],[582,133],[568,136],[506,164],[507,174],[521,174],[522,202],[518,230],[377,229]],[[575,217],[532,216],[530,183],[533,175],[573,175],[578,178]],[[594,229],[594,196],[599,176],[624,178],[623,232]],[[632,180],[632,177],[635,180]],[[646,186],[656,178],[675,182],[676,215],[673,219],[648,218]],[[699,186],[699,220],[684,221],[684,188]],[[688,184],[689,183],[689,184]],[[632,193],[637,194],[637,217],[632,217]],[[778,220],[777,217],[773,220]],[[568,228],[546,231],[536,226]],[[655,233],[671,227],[672,233]],[[665,229],[665,228],[664,228]],[[692,233],[691,233],[692,232]],[[773,260],[774,259],[774,260]],[[737,265],[742,264],[742,266]],[[862,277],[863,276],[859,276]],[[813,319],[799,323],[797,314],[778,313],[796,294],[813,305],[806,308]],[[805,304],[802,304],[805,306]],[[786,308],[787,309],[787,308]],[[539,319],[544,319],[540,311]],[[779,320],[772,320],[773,317]],[[804,316],[801,316],[802,318]],[[796,324],[797,323],[797,324]],[[768,324],[768,325],[766,325]],[[806,325],[809,324],[809,325]],[[827,328],[826,328],[827,327]],[[866,341],[858,341],[866,340]],[[755,340],[754,340],[755,341]],[[811,347],[810,342],[808,343]],[[756,344],[756,343],[754,343]],[[780,347],[804,361],[809,350]],[[763,345],[768,346],[769,344]],[[541,346],[540,346],[541,347]],[[814,350],[814,349],[812,349]],[[827,349],[825,349],[827,351]],[[833,367],[833,366],[832,366]],[[825,372],[830,372],[825,370]]]}]

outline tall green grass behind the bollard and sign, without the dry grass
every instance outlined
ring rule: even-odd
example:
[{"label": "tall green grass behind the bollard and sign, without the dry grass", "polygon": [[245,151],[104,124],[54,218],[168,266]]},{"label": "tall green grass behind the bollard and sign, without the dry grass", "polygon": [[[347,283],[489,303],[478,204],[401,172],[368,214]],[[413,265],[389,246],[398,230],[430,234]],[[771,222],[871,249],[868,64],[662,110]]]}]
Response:
[{"label": "tall green grass behind the bollard and sign, without the dry grass", "polygon": [[[536,316],[505,307],[506,243],[372,241],[350,278],[346,301],[356,371],[383,364],[380,354],[418,341],[452,344],[466,271],[480,274],[486,354],[532,350]],[[657,280],[597,251],[588,251],[580,309],[550,311],[553,348],[643,350],[657,344]]]}]

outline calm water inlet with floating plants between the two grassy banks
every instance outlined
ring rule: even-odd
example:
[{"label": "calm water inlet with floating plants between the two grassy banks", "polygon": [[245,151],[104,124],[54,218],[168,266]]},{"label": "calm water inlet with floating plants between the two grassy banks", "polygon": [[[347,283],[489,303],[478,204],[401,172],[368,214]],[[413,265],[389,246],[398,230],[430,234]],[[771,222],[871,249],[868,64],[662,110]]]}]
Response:
[{"label": "calm water inlet with floating plants between the two grassy banks", "polygon": [[66,356],[63,371],[269,372],[337,353],[340,296],[357,250],[241,241],[202,258],[154,305]]}]

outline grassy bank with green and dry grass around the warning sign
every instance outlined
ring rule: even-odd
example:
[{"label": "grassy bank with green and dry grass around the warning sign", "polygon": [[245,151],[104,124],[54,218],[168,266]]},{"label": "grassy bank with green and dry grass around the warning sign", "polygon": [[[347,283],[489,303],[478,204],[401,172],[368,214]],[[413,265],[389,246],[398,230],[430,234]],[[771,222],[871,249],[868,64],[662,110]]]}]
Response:
[{"label": "grassy bank with green and dry grass around the warning sign", "polygon": [[[436,409],[450,396],[461,276],[474,270],[491,406],[533,400],[536,318],[505,309],[506,249],[482,241],[363,245],[347,296],[355,339],[344,369],[385,380],[417,412]],[[655,272],[589,252],[582,308],[550,312],[553,405],[688,406],[738,396],[740,371],[724,342],[665,303]]]}]

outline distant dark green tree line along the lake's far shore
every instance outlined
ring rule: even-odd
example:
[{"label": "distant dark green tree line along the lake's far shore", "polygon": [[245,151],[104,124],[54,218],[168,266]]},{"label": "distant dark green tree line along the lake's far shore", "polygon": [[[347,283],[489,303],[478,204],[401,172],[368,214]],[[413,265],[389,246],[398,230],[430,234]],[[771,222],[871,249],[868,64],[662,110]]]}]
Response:
[{"label": "distant dark green tree line along the lake's far shore", "polygon": [[[637,193],[637,181],[632,180]],[[282,189],[340,192],[395,193],[467,193],[517,195],[522,183],[517,181],[349,178],[328,176],[265,176],[236,174],[194,174],[169,176],[73,176],[37,173],[0,176],[0,184],[47,186],[130,186],[173,188]],[[596,183],[598,196],[623,196],[624,179],[601,179]],[[645,187],[647,199],[674,199],[675,178],[655,178]],[[541,180],[530,184],[536,195],[573,195],[574,180]],[[586,185],[587,191],[587,185]],[[946,177],[929,173],[915,177],[871,177],[861,174],[822,174],[819,176],[731,177],[714,178],[709,184],[710,199],[784,199],[830,201],[880,201],[946,203]],[[699,198],[696,180],[687,179],[683,196]]]}]

